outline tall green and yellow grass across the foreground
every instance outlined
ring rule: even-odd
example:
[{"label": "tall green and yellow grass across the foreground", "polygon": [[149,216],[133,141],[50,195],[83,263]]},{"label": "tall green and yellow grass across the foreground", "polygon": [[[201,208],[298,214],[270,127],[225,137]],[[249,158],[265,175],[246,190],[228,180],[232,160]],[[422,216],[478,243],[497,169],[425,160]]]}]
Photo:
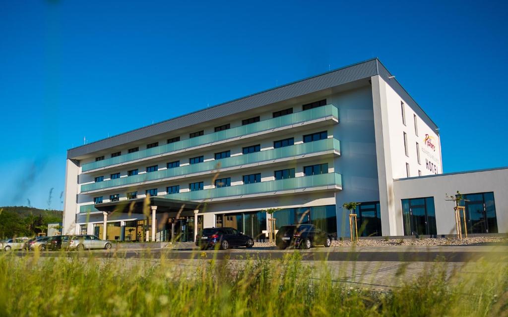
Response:
[{"label": "tall green and yellow grass across the foreground", "polygon": [[[180,274],[175,260],[126,266],[115,258],[0,255],[2,316],[506,316],[508,268],[467,274],[446,263],[392,290],[335,281],[323,261],[203,260]],[[197,254],[199,257],[200,254]],[[403,268],[401,269],[403,270]],[[402,274],[403,272],[400,272]]]}]

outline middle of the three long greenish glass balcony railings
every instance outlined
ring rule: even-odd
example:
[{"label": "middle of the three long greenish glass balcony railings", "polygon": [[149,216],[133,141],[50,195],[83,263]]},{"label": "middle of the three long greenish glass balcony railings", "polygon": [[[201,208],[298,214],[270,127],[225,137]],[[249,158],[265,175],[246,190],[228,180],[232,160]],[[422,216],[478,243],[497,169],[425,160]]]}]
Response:
[{"label": "middle of the three long greenish glass balcony railings", "polygon": [[207,161],[203,163],[185,165],[175,168],[168,168],[144,174],[122,177],[119,179],[104,182],[85,184],[81,185],[81,192],[84,193],[92,190],[137,184],[147,181],[166,179],[175,176],[190,175],[193,173],[199,173],[204,171],[212,171],[218,169],[219,167],[218,164],[220,164],[219,167],[220,169],[330,150],[335,150],[340,153],[339,140],[334,138],[327,138],[324,140],[302,143],[284,148],[238,155],[228,157],[225,159]]}]

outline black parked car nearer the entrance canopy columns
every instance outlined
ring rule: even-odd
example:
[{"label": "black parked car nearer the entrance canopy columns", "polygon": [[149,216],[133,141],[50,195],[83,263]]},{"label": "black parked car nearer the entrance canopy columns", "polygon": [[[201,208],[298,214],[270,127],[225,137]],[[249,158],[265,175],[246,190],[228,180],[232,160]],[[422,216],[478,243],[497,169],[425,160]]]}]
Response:
[{"label": "black parked car nearer the entrance canopy columns", "polygon": [[235,228],[205,228],[196,235],[196,245],[201,250],[216,248],[217,246],[220,250],[227,250],[235,246],[252,248],[254,239]]}]

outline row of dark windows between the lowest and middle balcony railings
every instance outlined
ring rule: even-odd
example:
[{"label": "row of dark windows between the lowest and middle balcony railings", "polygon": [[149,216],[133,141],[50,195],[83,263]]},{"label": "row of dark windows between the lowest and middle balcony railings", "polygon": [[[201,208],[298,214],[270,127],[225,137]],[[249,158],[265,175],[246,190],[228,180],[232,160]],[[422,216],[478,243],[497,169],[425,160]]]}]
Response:
[{"label": "row of dark windows between the lowest and middle balcony railings", "polygon": [[[324,164],[315,164],[310,166],[304,166],[303,167],[303,174],[305,176],[310,175],[317,175],[317,174],[326,174],[328,173],[328,163]],[[274,177],[275,180],[285,180],[285,179],[291,179],[295,178],[295,169],[294,168],[287,168],[287,169],[281,169],[274,171]],[[243,175],[242,177],[243,184],[253,184],[253,183],[260,183],[261,182],[261,173],[255,173],[255,174],[249,174],[249,175]],[[215,188],[220,187],[229,187],[231,186],[231,178],[221,178],[215,180]],[[189,184],[189,190],[191,192],[197,191],[197,190],[203,190],[204,189],[204,182],[195,182]],[[166,192],[168,194],[176,194],[180,192],[180,186],[168,186],[166,187]],[[157,189],[147,189],[145,191],[146,195],[150,196],[157,196]],[[110,201],[118,201],[119,200],[119,194],[110,195],[109,199]],[[130,192],[126,194],[127,199],[136,199],[138,198],[138,192]],[[102,196],[93,198],[94,203],[102,203]]]}]

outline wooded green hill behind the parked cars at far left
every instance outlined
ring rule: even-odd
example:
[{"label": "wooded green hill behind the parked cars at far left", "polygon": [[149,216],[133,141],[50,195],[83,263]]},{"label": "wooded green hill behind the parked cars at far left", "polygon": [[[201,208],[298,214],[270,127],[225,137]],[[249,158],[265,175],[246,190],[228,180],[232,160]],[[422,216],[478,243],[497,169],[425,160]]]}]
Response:
[{"label": "wooded green hill behind the parked cars at far left", "polygon": [[25,206],[0,207],[0,238],[35,236],[46,232],[48,223],[62,222],[60,210]]}]

